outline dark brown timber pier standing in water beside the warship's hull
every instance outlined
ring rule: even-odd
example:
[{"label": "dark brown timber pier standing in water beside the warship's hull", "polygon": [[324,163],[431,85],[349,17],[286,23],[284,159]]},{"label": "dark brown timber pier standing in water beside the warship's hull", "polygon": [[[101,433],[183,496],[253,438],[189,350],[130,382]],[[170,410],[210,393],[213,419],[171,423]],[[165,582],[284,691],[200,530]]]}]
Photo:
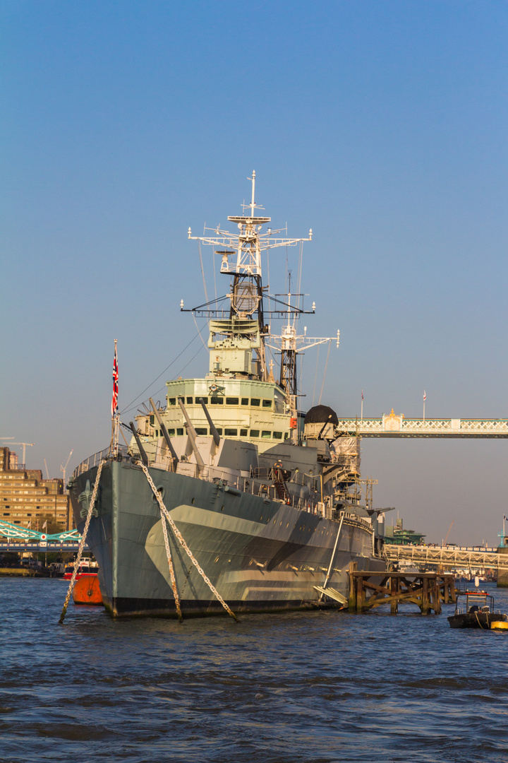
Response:
[{"label": "dark brown timber pier standing in water beside the warship's hull", "polygon": [[391,614],[399,604],[416,604],[423,615],[441,613],[441,602],[454,603],[455,578],[437,572],[364,572],[350,563],[350,612],[365,612],[390,604]]}]

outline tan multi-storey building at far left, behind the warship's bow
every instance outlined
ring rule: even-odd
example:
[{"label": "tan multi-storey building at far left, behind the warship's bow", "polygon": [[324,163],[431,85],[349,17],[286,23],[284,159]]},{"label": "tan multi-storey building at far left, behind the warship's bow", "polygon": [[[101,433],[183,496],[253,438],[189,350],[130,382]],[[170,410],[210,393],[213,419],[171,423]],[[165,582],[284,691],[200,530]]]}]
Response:
[{"label": "tan multi-storey building at far left, behind the warship's bow", "polygon": [[[69,495],[61,479],[43,479],[40,469],[18,468],[18,457],[0,447],[0,519],[37,530],[43,514],[51,514],[62,530],[72,528]],[[39,526],[42,531],[42,526]]]}]

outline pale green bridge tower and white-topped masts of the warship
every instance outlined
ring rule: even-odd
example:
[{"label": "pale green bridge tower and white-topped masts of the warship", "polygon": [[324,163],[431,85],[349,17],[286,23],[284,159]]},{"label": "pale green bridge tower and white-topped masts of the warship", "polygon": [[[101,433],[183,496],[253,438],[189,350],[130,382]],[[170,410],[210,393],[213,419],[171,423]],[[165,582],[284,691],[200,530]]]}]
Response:
[{"label": "pale green bridge tower and white-topped masts of the warship", "polygon": [[[280,237],[281,230],[262,228],[270,217],[257,217],[254,201],[255,172],[251,177],[250,214],[232,215],[228,221],[238,226],[238,233],[216,228],[206,236],[188,237],[214,247],[221,256],[220,272],[230,278],[230,289],[222,297],[193,307],[193,314],[209,320],[209,369],[205,378],[168,381],[167,406],[161,410],[168,435],[183,436],[187,422],[178,404],[184,401],[196,434],[210,434],[204,401],[219,435],[255,443],[264,452],[278,442],[298,442],[297,356],[302,349],[335,341],[335,337],[314,338],[297,333],[298,319],[305,313],[301,294],[270,296],[262,279],[261,256],[280,247],[298,246],[312,240]],[[281,298],[283,297],[283,298]],[[267,304],[268,303],[268,304]],[[184,302],[181,302],[184,311]],[[279,335],[270,331],[273,318],[283,319]],[[337,346],[339,333],[337,331]],[[267,346],[280,355],[277,380],[268,369]],[[271,363],[273,365],[273,362]],[[155,417],[136,417],[140,432],[147,437],[162,436]]]}]

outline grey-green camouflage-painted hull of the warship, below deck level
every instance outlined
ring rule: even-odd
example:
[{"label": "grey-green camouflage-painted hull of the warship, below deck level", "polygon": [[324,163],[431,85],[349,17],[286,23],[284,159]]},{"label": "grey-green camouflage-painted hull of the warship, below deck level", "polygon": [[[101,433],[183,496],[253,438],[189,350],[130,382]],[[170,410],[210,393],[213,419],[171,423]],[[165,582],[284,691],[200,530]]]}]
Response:
[{"label": "grey-green camouflage-painted hull of the warship, below deck level", "polygon": [[[331,562],[337,520],[163,469],[150,474],[197,562],[235,612],[312,607]],[[92,468],[72,484],[81,531],[96,475]],[[168,536],[184,617],[223,613],[169,527]],[[161,513],[139,466],[104,465],[87,540],[113,617],[175,615]],[[345,597],[351,561],[359,570],[385,568],[372,555],[364,520],[343,522],[334,554],[328,584]]]}]

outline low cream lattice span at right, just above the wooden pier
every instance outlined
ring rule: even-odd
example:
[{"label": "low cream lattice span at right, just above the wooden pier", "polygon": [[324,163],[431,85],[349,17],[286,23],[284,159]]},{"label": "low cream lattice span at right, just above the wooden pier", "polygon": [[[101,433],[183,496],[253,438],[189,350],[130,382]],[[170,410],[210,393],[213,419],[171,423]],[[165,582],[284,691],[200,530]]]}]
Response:
[{"label": "low cream lattice span at right, just above the wooden pier", "polygon": [[508,554],[499,554],[495,549],[474,551],[466,546],[402,546],[385,543],[385,553],[391,562],[407,559],[414,562],[414,565],[508,570]]}]

